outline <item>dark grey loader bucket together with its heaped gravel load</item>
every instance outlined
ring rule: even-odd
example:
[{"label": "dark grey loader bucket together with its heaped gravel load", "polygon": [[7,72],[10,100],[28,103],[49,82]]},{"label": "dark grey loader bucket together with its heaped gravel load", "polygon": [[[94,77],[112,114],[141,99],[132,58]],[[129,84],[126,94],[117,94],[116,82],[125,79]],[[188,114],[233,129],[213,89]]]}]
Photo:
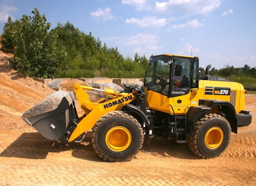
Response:
[{"label": "dark grey loader bucket together with its heaped gravel load", "polygon": [[73,91],[56,91],[25,112],[22,119],[46,139],[63,138],[70,128],[74,130],[74,123],[79,120],[75,97]]}]

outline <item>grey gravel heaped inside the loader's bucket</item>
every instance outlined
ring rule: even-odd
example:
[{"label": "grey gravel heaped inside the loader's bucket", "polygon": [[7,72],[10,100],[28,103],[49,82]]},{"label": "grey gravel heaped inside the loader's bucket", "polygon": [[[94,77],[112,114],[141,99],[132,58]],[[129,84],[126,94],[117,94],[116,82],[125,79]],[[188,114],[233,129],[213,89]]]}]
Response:
[{"label": "grey gravel heaped inside the loader's bucket", "polygon": [[66,97],[68,92],[66,91],[56,91],[46,97],[44,100],[36,104],[34,107],[26,111],[22,117],[23,118],[30,118],[32,116],[38,116],[45,112],[54,111],[60,105],[60,102],[63,97]]}]

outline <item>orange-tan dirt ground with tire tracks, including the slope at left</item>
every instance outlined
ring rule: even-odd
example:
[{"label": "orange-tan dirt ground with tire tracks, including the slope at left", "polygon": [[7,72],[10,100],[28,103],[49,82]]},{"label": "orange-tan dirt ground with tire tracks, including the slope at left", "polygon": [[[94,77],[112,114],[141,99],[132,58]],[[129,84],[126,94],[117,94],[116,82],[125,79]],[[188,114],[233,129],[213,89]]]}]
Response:
[{"label": "orange-tan dirt ground with tire tracks, including the slope at left", "polygon": [[20,118],[54,90],[17,74],[7,57],[0,51],[0,185],[256,185],[256,95],[246,95],[252,124],[220,157],[199,159],[187,144],[155,139],[130,162],[108,163],[89,141],[49,141]]}]

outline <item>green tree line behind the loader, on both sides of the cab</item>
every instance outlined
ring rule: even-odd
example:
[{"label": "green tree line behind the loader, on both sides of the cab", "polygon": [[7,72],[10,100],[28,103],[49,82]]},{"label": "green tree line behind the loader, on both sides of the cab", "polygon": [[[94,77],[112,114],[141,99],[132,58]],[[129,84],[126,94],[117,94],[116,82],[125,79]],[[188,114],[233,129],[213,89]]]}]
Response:
[{"label": "green tree line behind the loader, on both sides of the cab", "polygon": [[[70,22],[58,23],[50,30],[51,23],[45,15],[40,15],[37,8],[32,14],[15,21],[8,17],[3,27],[2,50],[14,54],[11,64],[20,74],[33,78],[144,77],[148,65],[145,56],[136,53],[134,59],[124,58],[117,47],[109,48]],[[200,68],[200,75],[204,73]],[[256,89],[256,68],[248,65],[211,68],[210,75]]]}]

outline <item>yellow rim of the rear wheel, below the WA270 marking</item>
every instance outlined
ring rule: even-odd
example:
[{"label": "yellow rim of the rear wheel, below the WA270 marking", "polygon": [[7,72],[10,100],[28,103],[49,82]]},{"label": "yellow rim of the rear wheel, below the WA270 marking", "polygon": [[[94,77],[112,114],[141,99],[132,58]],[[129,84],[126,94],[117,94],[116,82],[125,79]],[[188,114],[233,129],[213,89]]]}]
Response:
[{"label": "yellow rim of the rear wheel, below the WA270 marking", "polygon": [[212,127],[205,134],[205,145],[207,148],[218,148],[223,142],[224,134],[220,127]]}]

